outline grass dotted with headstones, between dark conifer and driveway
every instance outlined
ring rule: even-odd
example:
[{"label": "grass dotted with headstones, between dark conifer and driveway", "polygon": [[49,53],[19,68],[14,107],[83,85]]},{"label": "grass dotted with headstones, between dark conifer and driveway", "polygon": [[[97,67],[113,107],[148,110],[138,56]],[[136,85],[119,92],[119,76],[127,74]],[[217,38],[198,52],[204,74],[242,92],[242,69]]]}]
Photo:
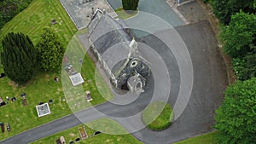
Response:
[{"label": "grass dotted with headstones, between dark conifer and driveway", "polygon": [[[3,72],[2,66],[0,66],[0,72]],[[55,74],[40,72],[29,84],[20,87],[16,87],[9,78],[0,79],[0,96],[3,100],[5,96],[17,98],[17,101],[8,101],[7,106],[0,107],[1,121],[11,126],[11,131],[1,134],[0,140],[71,113],[66,101],[62,101],[65,97],[61,83],[56,83],[53,79],[55,76]],[[28,106],[22,104],[20,98],[22,92],[26,93]],[[49,105],[51,114],[38,118],[35,107],[40,101],[48,102],[50,99],[54,101]]]}]

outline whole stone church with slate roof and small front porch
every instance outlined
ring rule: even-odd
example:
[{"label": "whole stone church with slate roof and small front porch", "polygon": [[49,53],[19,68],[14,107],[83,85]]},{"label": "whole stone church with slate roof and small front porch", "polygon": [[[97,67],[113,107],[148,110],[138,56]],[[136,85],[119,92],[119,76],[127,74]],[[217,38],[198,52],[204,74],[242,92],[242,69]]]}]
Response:
[{"label": "whole stone church with slate roof and small front porch", "polygon": [[[106,72],[113,87],[140,94],[150,74],[149,62],[139,55],[139,45],[130,37],[123,20],[115,20],[100,9],[88,26],[90,51]],[[114,48],[110,53],[110,48]]]}]

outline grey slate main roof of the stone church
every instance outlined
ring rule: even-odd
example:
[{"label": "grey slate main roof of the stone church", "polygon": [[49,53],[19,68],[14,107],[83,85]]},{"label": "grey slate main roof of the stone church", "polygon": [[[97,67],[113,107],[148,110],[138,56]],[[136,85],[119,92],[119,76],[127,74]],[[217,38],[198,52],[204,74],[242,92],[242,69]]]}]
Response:
[{"label": "grey slate main roof of the stone church", "polygon": [[[90,41],[109,68],[116,67],[117,62],[120,62],[117,60],[123,60],[119,63],[119,66],[122,66],[125,62],[124,58],[129,55],[131,37],[125,32],[124,26],[124,23],[120,24],[119,21],[108,14],[101,14],[100,11],[96,12],[88,26]],[[104,53],[111,47],[114,49],[111,53]],[[113,69],[112,71],[115,72]]]}]

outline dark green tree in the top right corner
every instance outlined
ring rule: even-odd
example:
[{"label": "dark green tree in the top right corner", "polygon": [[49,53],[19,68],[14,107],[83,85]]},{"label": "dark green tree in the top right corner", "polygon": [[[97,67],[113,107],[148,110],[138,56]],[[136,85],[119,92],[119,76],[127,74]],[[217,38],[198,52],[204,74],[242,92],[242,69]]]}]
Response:
[{"label": "dark green tree in the top right corner", "polygon": [[255,14],[253,3],[255,3],[253,0],[214,0],[212,1],[213,13],[224,25],[228,25],[231,15],[240,10]]}]

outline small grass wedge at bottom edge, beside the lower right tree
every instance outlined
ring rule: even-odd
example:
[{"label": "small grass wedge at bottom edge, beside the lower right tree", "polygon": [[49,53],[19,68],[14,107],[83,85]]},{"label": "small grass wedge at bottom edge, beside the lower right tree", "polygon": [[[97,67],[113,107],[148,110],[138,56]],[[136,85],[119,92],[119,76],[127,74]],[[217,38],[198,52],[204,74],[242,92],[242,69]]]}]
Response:
[{"label": "small grass wedge at bottom edge, beside the lower right tree", "polygon": [[217,131],[199,135],[184,141],[178,141],[175,144],[218,144],[216,140]]}]

